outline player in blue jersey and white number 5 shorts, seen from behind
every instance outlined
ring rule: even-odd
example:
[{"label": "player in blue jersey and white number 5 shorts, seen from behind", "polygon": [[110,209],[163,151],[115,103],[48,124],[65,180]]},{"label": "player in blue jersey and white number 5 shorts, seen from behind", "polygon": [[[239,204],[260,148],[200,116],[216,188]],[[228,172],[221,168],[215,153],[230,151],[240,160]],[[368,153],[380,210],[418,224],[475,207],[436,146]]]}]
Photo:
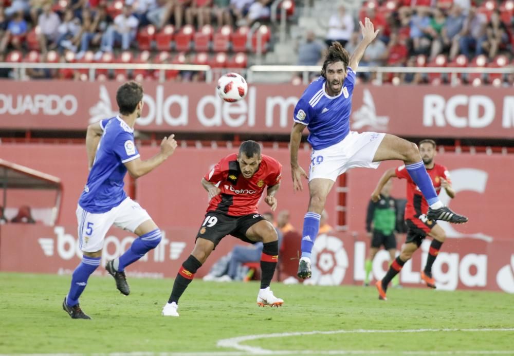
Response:
[{"label": "player in blue jersey and white number 5 shorts, seen from behind", "polygon": [[100,265],[103,240],[113,224],[139,236],[130,249],[105,266],[124,295],[130,293],[125,267],[154,249],[161,240],[161,232],[150,215],[123,191],[123,178],[127,171],[134,178],[151,172],[173,154],[177,142],[174,135],[164,137],[160,153],[142,161],[134,144],[134,124],[141,116],[143,88],[136,82],[123,84],[116,93],[116,102],[120,109],[118,116],[87,127],[90,171],[77,207],[83,257],[73,272],[69,293],[63,301],[64,311],[74,319],[90,319],[80,308],[79,296],[91,273]]}]

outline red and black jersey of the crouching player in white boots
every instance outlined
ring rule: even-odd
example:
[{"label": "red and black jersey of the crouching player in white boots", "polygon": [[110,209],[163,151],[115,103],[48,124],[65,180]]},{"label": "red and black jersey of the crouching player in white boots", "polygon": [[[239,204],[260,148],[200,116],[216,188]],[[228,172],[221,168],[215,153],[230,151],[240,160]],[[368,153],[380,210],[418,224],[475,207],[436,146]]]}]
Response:
[{"label": "red and black jersey of the crouching player in white boots", "polygon": [[264,189],[280,182],[282,164],[276,159],[262,155],[262,161],[255,174],[246,179],[241,173],[237,154],[231,154],[219,161],[205,179],[213,184],[219,182],[221,193],[209,201],[207,211],[217,211],[232,216],[257,213],[257,204]]}]

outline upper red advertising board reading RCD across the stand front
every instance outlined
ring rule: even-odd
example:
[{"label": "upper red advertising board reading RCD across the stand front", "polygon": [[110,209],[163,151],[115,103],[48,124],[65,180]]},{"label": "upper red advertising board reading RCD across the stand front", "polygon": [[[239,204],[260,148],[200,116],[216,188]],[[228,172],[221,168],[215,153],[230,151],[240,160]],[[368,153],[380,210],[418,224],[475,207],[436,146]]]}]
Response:
[{"label": "upper red advertising board reading RCD across the stand front", "polygon": [[[80,130],[117,114],[115,82],[0,82],[0,128]],[[256,84],[245,100],[222,102],[214,85],[144,84],[147,131],[289,132],[292,110],[304,90],[290,84]],[[351,128],[399,136],[514,137],[514,95],[508,88],[357,85]]]}]

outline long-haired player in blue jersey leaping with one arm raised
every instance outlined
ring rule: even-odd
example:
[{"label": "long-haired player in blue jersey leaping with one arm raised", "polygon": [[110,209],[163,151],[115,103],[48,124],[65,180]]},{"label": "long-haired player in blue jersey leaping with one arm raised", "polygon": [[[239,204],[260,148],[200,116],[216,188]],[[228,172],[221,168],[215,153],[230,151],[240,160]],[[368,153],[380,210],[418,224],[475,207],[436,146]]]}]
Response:
[{"label": "long-haired player in blue jersey leaping with one arm raised", "polygon": [[[381,161],[402,160],[430,205],[429,219],[452,223],[468,221],[467,217],[455,214],[440,202],[416,144],[389,134],[350,130],[355,72],[366,47],[378,34],[367,17],[360,27],[362,41],[351,56],[337,42],[328,49],[321,77],[305,89],[293,114],[295,123],[290,141],[293,189],[301,191],[301,179],[305,177],[309,179],[310,193],[303,223],[300,278],[311,276],[310,253],[318,235],[326,197],[337,177],[350,168],[377,168]],[[298,148],[305,127],[309,129],[307,140],[313,146],[308,177],[298,164]]]}]

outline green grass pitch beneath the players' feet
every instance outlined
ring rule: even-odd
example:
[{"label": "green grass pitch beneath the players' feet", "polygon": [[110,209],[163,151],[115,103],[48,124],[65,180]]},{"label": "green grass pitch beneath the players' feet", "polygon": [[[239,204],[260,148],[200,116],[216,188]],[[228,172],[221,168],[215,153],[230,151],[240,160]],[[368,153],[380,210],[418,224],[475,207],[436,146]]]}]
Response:
[{"label": "green grass pitch beneath the players' feet", "polygon": [[[70,278],[0,273],[0,354],[514,355],[514,295],[506,293],[390,288],[382,302],[374,287],[273,283],[284,306],[259,308],[258,283],[194,280],[175,318],[160,315],[172,279],[129,277],[123,296],[106,276],[89,279],[86,321],[62,310]],[[222,341],[238,336],[249,338]]]}]

